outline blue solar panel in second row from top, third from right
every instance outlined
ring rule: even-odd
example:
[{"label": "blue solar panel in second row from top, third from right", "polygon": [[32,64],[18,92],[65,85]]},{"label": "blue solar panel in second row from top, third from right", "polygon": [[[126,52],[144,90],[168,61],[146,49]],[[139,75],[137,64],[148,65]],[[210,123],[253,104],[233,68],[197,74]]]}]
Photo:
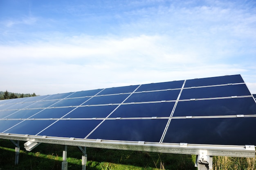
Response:
[{"label": "blue solar panel in second row from top, third from right", "polygon": [[94,96],[89,101],[85,102],[83,105],[100,105],[100,104],[109,104],[109,103],[122,103],[129,94],[117,94],[110,96]]}]

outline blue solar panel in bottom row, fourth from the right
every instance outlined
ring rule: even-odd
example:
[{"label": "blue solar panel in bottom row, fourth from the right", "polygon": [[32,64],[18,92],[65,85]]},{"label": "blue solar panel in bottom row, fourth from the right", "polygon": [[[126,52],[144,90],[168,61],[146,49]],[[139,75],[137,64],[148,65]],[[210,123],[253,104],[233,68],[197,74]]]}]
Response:
[{"label": "blue solar panel in bottom row, fourth from the right", "polygon": [[54,123],[52,120],[27,120],[5,131],[4,133],[36,135],[41,130]]}]

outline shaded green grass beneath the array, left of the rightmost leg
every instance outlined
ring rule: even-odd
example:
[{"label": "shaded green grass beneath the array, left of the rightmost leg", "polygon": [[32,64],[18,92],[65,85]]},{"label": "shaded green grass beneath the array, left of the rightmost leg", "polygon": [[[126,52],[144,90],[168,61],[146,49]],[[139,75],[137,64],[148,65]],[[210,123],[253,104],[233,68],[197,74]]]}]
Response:
[{"label": "shaded green grass beneath the array, left of the rightmost leg", "polygon": [[[61,170],[63,145],[41,143],[28,152],[20,141],[17,166],[15,146],[9,140],[0,139],[0,170]],[[86,170],[157,170],[160,163],[166,170],[196,170],[195,156],[163,154],[128,150],[87,148]],[[67,147],[68,170],[81,170],[82,152],[78,147]]]}]

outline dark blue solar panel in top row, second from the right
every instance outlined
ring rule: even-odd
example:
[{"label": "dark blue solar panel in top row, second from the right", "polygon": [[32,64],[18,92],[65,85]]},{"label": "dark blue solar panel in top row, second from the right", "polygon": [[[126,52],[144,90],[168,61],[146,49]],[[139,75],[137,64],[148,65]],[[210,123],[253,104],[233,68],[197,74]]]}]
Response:
[{"label": "dark blue solar panel in top row, second from the right", "polygon": [[136,92],[162,90],[162,89],[179,89],[182,87],[184,81],[170,81],[164,83],[150,83],[141,85]]}]

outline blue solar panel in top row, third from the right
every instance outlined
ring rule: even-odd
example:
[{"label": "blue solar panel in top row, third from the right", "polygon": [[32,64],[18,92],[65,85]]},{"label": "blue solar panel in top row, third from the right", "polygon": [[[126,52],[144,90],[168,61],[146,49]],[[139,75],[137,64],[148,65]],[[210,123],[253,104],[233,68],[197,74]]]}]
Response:
[{"label": "blue solar panel in top row, third from the right", "polygon": [[112,87],[104,89],[99,95],[106,95],[106,94],[119,94],[119,93],[131,93],[133,92],[139,85],[130,85],[124,87]]}]

